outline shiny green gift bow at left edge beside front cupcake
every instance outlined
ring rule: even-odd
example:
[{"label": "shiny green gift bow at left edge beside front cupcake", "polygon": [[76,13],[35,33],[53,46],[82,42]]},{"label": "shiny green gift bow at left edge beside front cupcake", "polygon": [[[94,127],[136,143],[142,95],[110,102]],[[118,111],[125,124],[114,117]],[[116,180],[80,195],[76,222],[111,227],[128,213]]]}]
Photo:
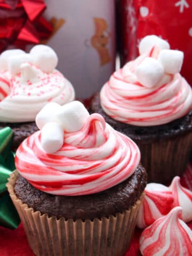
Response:
[{"label": "shiny green gift bow at left edge beside front cupcake", "polygon": [[10,150],[12,139],[10,127],[0,130],[0,226],[14,229],[20,219],[6,188],[7,179],[15,170],[14,153]]}]

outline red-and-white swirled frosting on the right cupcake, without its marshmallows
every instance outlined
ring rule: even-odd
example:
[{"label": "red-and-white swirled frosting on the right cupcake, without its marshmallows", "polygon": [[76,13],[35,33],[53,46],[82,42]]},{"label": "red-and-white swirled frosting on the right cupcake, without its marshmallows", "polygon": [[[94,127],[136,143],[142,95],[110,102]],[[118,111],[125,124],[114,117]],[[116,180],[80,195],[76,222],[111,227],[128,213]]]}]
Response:
[{"label": "red-and-white swirled frosting on the right cupcake, without its marshmallows", "polygon": [[153,47],[111,75],[100,92],[107,115],[127,124],[153,126],[169,123],[192,109],[191,87],[179,73],[165,73],[151,88],[139,83],[136,68],[147,57],[158,59],[158,54],[157,47]]}]

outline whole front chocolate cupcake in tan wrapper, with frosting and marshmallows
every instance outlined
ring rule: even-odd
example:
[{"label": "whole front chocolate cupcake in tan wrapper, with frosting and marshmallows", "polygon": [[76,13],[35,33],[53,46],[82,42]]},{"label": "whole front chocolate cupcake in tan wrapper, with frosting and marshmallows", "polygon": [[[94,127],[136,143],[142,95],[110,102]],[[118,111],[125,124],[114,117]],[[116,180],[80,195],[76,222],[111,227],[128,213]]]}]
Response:
[{"label": "whole front chocolate cupcake in tan wrapper, with frosting and marshmallows", "polygon": [[36,255],[119,255],[129,247],[146,171],[140,151],[74,101],[37,115],[7,188]]}]

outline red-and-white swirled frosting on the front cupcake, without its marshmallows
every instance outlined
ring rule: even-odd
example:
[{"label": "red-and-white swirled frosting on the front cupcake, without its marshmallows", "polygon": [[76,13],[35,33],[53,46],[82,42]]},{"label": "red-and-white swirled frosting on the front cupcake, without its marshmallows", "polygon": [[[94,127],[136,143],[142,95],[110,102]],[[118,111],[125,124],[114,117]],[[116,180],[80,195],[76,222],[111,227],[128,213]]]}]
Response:
[{"label": "red-and-white swirled frosting on the front cupcake, without its marshmallows", "polygon": [[87,195],[106,190],[129,178],[140,162],[140,151],[99,114],[83,128],[64,135],[63,146],[47,154],[41,131],[22,142],[15,165],[31,185],[54,195]]}]

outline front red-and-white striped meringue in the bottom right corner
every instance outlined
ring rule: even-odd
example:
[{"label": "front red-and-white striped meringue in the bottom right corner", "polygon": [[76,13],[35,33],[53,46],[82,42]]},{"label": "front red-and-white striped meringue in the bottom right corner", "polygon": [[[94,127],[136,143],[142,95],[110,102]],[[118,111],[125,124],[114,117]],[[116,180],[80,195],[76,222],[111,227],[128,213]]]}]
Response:
[{"label": "front red-and-white striped meringue in the bottom right corner", "polygon": [[179,219],[181,211],[179,206],[173,208],[142,232],[140,251],[143,256],[191,256],[192,231]]}]

